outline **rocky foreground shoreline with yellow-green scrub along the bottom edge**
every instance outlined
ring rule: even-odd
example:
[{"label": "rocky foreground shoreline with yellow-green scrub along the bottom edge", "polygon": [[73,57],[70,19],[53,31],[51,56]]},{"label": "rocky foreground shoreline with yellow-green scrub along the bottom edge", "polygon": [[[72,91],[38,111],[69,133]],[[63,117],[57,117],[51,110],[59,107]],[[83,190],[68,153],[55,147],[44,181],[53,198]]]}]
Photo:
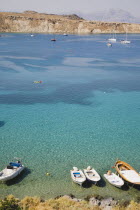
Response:
[{"label": "rocky foreground shoreline with yellow-green scrub along the bottom edge", "polygon": [[140,201],[116,201],[112,197],[88,196],[85,199],[73,195],[58,196],[43,200],[38,197],[25,197],[22,200],[13,195],[0,199],[0,210],[135,210],[140,209]]}]

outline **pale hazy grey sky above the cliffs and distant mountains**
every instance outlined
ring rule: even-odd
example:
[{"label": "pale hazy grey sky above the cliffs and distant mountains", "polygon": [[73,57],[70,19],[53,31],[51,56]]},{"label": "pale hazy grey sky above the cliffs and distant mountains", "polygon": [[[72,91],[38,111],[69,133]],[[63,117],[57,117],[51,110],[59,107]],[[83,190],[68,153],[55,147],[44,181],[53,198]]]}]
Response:
[{"label": "pale hazy grey sky above the cliffs and distant mountains", "polygon": [[0,11],[34,10],[48,14],[94,13],[110,8],[140,16],[140,0],[0,0]]}]

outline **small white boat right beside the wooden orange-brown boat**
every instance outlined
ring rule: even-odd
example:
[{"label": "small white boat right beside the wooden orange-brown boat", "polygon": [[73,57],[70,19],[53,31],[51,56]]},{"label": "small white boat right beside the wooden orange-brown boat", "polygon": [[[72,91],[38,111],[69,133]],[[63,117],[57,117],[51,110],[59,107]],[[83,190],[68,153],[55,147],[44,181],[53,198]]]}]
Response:
[{"label": "small white boat right beside the wooden orange-brown boat", "polygon": [[[110,173],[108,173],[110,172]],[[124,185],[124,181],[118,175],[108,171],[107,174],[104,174],[105,179],[115,187],[121,188]]]}]

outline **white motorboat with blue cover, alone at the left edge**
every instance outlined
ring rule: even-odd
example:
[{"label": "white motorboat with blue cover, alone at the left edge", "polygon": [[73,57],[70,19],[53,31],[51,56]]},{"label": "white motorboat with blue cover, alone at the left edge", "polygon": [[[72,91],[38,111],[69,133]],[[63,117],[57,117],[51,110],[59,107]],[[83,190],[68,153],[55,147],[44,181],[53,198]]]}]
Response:
[{"label": "white motorboat with blue cover, alone at the left edge", "polygon": [[10,162],[9,165],[0,172],[0,181],[8,181],[15,178],[24,168],[20,161]]}]

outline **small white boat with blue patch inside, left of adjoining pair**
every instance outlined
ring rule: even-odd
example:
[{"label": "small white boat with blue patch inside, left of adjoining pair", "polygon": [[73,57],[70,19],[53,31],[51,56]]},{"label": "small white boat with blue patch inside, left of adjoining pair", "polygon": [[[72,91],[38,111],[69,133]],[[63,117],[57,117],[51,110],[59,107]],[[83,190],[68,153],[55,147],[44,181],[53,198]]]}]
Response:
[{"label": "small white boat with blue patch inside, left of adjoining pair", "polygon": [[79,170],[77,167],[73,167],[73,170],[70,170],[70,174],[72,180],[79,185],[82,185],[86,181],[83,171]]}]

